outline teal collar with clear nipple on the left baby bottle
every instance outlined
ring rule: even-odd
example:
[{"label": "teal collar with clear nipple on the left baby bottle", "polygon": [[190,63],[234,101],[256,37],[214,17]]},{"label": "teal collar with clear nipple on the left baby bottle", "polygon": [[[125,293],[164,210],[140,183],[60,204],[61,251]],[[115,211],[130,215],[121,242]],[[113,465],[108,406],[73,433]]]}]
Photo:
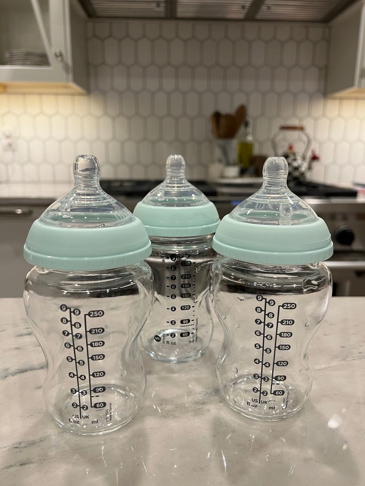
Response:
[{"label": "teal collar with clear nipple on the left baby bottle", "polygon": [[96,157],[73,162],[75,185],[36,219],[24,258],[52,270],[107,270],[141,262],[151,242],[141,221],[102,190]]}]

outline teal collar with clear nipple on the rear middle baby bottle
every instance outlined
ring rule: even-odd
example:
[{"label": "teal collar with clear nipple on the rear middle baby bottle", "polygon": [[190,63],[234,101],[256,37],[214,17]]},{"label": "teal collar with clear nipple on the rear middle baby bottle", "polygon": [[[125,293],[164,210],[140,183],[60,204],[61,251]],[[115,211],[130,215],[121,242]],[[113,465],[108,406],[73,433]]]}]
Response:
[{"label": "teal collar with clear nipple on the rear middle baby bottle", "polygon": [[137,204],[134,216],[149,236],[202,236],[214,233],[219,216],[213,203],[185,178],[185,161],[171,155],[166,179]]}]

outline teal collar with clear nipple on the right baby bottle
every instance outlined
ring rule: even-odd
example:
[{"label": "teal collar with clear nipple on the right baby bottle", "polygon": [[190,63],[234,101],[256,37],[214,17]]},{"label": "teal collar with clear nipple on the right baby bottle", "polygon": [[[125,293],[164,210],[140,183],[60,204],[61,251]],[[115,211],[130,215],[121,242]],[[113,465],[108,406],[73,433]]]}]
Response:
[{"label": "teal collar with clear nipple on the right baby bottle", "polygon": [[271,157],[262,175],[262,187],[222,219],[214,250],[261,265],[307,265],[330,258],[333,243],[326,223],[288,189],[288,162]]}]

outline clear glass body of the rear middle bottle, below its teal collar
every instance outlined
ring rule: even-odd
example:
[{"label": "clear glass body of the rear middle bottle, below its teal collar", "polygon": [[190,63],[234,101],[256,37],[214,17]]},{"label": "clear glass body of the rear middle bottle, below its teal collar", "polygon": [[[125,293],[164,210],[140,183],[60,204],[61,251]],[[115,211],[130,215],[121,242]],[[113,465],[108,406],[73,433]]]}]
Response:
[{"label": "clear glass body of the rear middle bottle, below its teal collar", "polygon": [[155,300],[141,332],[152,358],[182,362],[198,358],[209,346],[213,321],[209,272],[215,257],[213,235],[190,238],[150,237],[146,259],[155,280]]}]

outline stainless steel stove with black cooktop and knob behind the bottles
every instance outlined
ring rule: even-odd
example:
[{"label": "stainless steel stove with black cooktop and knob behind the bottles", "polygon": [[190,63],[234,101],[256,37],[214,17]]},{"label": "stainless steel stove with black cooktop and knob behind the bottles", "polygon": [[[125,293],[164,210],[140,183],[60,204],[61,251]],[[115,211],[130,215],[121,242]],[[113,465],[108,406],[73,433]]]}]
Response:
[{"label": "stainless steel stove with black cooktop and knob behind the bottles", "polygon": [[[130,211],[161,181],[103,180],[103,189],[120,200]],[[192,181],[216,205],[222,218],[246,197],[262,180],[223,180],[211,184]],[[331,232],[334,255],[326,262],[332,272],[333,295],[365,296],[365,202],[357,200],[357,191],[306,181],[291,184],[290,189],[322,217]]]}]

